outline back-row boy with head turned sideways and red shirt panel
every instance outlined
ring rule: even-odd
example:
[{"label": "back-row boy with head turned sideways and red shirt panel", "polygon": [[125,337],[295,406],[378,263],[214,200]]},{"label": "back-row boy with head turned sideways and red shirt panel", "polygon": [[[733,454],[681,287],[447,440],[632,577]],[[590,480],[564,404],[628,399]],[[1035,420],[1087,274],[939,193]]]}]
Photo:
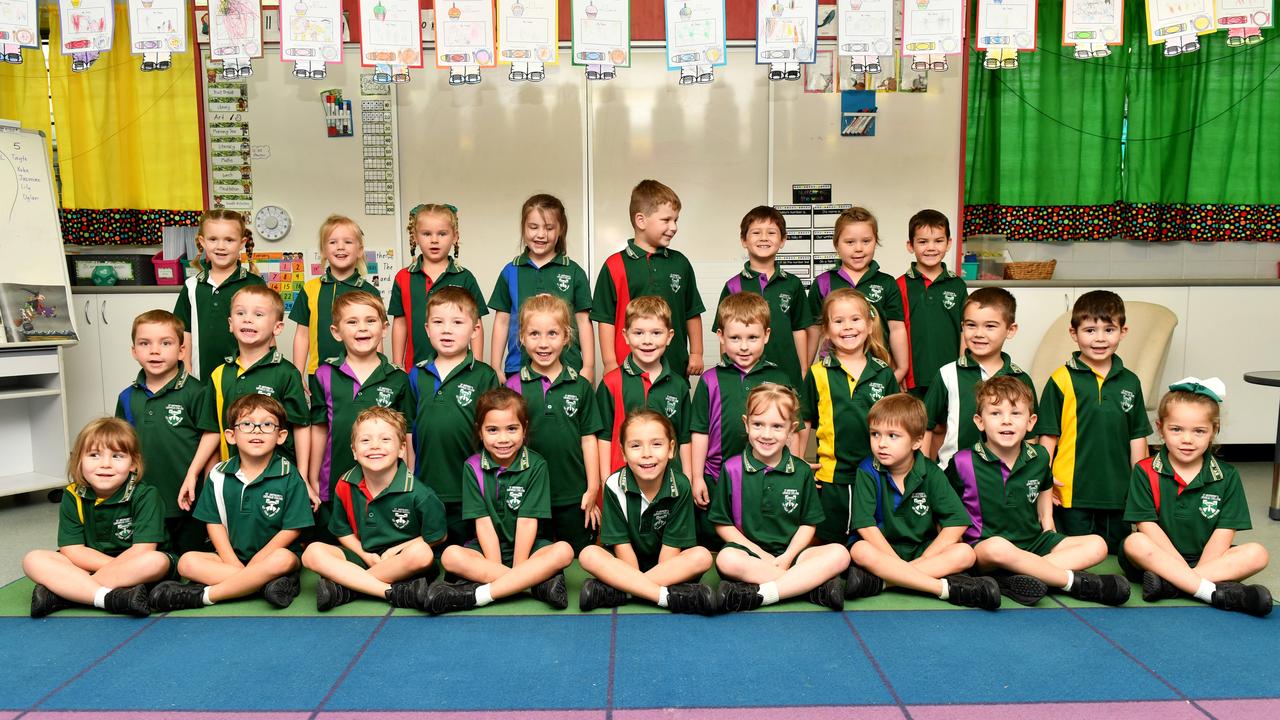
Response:
[{"label": "back-row boy with head turned sideways and red shirt panel", "polygon": [[[658,181],[640,181],[631,190],[631,228],[635,238],[609,255],[595,281],[591,319],[599,323],[602,373],[608,373],[631,352],[626,332],[632,297],[655,295],[667,301],[675,342],[667,361],[681,377],[703,372],[703,299],[694,266],[671,249],[680,219],[680,196]],[[617,468],[614,468],[616,470]]]}]

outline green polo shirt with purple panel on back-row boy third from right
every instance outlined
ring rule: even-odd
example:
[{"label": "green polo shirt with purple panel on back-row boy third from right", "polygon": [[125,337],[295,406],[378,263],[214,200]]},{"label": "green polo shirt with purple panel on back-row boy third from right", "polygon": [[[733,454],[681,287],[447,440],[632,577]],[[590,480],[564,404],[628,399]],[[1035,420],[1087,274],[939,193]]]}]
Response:
[{"label": "green polo shirt with purple panel on back-row boy third from right", "polygon": [[[733,275],[724,283],[718,302],[723,302],[730,295],[739,292],[751,292],[764,296],[769,304],[769,342],[764,346],[764,359],[773,363],[790,379],[791,387],[800,386],[800,357],[796,355],[795,337],[791,333],[803,331],[813,324],[813,313],[805,302],[804,283],[800,278],[773,265],[773,273],[765,275],[751,269],[751,264],[742,265],[742,272]],[[719,318],[712,325],[713,331],[721,329]]]}]

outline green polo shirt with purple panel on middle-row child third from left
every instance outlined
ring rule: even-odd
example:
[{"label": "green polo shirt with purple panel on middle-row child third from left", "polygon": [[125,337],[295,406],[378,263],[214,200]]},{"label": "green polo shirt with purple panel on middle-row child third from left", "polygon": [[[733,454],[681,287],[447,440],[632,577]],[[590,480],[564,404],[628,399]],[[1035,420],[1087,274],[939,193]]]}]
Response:
[{"label": "green polo shirt with purple panel on middle-row child third from left", "polygon": [[378,354],[379,365],[360,382],[347,364],[347,354],[329,357],[316,368],[311,383],[311,424],[329,427],[329,442],[320,461],[320,500],[329,500],[330,489],[343,473],[356,466],[351,451],[351,430],[356,415],[366,407],[390,407],[413,425],[413,395],[408,374]]}]

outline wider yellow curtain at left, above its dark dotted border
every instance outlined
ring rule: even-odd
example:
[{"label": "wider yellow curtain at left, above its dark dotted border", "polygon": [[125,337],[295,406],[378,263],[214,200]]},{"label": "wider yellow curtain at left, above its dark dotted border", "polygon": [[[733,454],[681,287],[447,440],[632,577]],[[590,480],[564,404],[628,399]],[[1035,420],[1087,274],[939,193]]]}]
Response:
[{"label": "wider yellow curtain at left, above its dark dotted border", "polygon": [[55,8],[49,77],[63,208],[201,209],[195,38],[173,55],[173,68],[143,73],[141,56],[129,53],[128,8],[118,4],[111,50],[87,72],[73,73],[70,58],[56,50],[58,26]]}]

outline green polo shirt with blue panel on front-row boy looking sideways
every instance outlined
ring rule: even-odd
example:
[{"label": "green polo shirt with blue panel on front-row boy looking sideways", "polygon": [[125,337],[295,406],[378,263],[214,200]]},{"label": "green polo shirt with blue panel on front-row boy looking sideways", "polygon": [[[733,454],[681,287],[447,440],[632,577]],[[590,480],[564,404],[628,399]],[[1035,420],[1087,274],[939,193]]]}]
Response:
[{"label": "green polo shirt with blue panel on front-row boy looking sideways", "polygon": [[968,525],[969,515],[947,477],[923,452],[915,451],[901,491],[888,468],[874,457],[858,465],[852,527],[879,528],[899,557],[915,560],[938,537],[938,529]]}]

